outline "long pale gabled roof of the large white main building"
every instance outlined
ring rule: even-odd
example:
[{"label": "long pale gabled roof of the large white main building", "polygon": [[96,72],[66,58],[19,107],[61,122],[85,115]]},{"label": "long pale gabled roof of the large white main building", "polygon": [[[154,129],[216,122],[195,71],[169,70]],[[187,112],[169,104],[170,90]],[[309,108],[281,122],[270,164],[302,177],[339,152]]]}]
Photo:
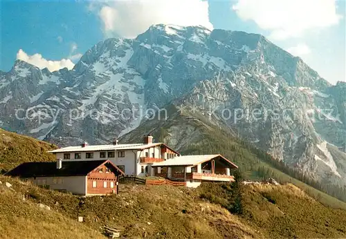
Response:
[{"label": "long pale gabled roof of the large white main building", "polygon": [[[168,149],[174,151],[169,146],[163,143],[152,144],[100,144],[100,145],[87,145],[87,146],[69,146],[61,149],[48,151],[48,153],[70,153],[70,152],[89,152],[89,151],[111,151],[111,150],[142,150],[153,146],[166,146]],[[176,151],[174,151],[177,153]],[[177,153],[180,155],[180,153]]]}]

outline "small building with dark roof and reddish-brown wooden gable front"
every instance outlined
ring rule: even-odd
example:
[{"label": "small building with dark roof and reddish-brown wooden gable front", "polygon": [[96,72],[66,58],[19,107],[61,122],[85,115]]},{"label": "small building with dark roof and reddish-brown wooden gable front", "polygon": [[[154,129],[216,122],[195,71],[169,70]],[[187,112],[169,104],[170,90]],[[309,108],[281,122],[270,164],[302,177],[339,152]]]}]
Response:
[{"label": "small building with dark roof and reddish-brown wooden gable front", "polygon": [[118,193],[119,176],[124,173],[110,160],[58,159],[57,162],[25,162],[6,175],[76,195],[107,195]]}]

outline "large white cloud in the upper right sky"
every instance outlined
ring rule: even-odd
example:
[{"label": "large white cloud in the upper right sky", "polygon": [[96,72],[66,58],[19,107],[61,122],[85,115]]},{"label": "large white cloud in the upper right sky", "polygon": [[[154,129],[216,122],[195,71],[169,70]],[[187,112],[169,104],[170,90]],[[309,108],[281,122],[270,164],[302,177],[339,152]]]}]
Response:
[{"label": "large white cloud in the upper right sky", "polygon": [[238,0],[233,10],[278,40],[300,37],[307,30],[333,26],[342,19],[335,0]]}]

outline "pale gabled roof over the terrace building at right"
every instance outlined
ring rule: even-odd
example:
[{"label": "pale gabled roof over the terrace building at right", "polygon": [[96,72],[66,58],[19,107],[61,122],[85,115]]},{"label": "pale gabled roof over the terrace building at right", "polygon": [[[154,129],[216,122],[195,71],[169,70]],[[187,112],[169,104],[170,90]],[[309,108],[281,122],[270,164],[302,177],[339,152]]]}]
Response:
[{"label": "pale gabled roof over the terrace building at right", "polygon": [[229,164],[233,168],[235,169],[238,168],[237,165],[233,164],[233,162],[230,162],[230,160],[226,159],[226,157],[220,154],[186,155],[186,156],[173,157],[170,160],[165,160],[163,162],[156,162],[152,164],[152,166],[196,166],[197,164],[201,164],[203,162],[207,162],[212,159],[215,159],[215,157],[221,157],[222,160],[224,160],[227,164]]}]

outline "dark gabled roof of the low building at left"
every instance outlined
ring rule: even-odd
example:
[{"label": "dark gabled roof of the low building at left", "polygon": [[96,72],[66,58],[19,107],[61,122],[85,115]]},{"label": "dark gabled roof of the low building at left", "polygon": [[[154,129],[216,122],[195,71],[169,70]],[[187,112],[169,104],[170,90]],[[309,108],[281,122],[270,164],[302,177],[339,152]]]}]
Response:
[{"label": "dark gabled roof of the low building at left", "polygon": [[62,161],[61,169],[57,169],[57,162],[25,162],[6,173],[6,175],[21,178],[84,176],[103,164],[111,165],[119,174],[124,174],[124,172],[109,160],[71,160]]}]

